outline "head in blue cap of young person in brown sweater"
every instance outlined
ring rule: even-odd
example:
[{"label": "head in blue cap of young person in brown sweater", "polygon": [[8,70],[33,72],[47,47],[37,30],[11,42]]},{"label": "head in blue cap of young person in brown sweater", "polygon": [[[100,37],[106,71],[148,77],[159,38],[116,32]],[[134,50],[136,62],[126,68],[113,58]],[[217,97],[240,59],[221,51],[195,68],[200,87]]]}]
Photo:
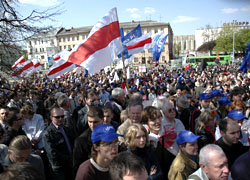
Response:
[{"label": "head in blue cap of young person in brown sweater", "polygon": [[[97,163],[107,165],[118,154],[118,137],[114,127],[110,124],[100,124],[91,133],[93,147],[91,157]],[[105,166],[105,165],[104,165]]]}]

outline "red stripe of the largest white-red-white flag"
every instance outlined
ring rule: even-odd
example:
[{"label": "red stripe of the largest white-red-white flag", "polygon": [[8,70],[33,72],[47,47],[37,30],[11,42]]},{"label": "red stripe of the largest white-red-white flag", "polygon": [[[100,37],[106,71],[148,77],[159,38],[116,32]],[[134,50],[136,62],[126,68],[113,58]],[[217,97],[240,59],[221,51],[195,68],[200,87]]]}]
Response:
[{"label": "red stripe of the largest white-red-white flag", "polygon": [[93,33],[69,56],[68,61],[80,65],[96,51],[107,47],[118,37],[120,37],[119,22],[115,21]]}]

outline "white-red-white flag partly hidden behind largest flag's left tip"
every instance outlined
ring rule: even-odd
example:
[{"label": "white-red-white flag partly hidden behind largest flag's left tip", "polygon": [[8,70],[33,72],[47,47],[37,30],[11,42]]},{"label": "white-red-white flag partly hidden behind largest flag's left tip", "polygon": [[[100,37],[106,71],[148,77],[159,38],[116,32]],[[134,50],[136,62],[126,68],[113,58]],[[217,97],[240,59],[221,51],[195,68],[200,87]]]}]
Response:
[{"label": "white-red-white flag partly hidden behind largest flag's left tip", "polygon": [[60,57],[59,60],[56,61],[53,66],[50,67],[48,77],[50,79],[54,79],[56,77],[60,77],[61,75],[71,71],[76,67],[75,64],[68,62],[67,59],[70,55],[70,52],[67,51],[63,56]]}]

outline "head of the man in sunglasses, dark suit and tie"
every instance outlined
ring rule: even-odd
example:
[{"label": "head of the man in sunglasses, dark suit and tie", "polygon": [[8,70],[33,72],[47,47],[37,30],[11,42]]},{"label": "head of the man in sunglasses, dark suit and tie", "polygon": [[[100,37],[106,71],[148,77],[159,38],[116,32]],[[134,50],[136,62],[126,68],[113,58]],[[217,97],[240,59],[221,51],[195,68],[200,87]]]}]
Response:
[{"label": "head of the man in sunglasses, dark suit and tie", "polygon": [[50,110],[50,119],[56,126],[62,126],[65,122],[64,110],[58,106],[54,106]]}]

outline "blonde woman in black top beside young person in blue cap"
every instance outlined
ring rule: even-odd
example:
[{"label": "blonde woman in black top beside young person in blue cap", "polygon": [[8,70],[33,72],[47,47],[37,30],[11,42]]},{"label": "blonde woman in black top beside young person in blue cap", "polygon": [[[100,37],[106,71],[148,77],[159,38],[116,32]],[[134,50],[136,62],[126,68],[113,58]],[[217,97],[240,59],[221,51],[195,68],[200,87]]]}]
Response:
[{"label": "blonde woman in black top beside young person in blue cap", "polygon": [[150,147],[148,132],[143,125],[133,124],[127,129],[125,144],[129,152],[143,160],[150,179],[161,179],[162,171]]}]

